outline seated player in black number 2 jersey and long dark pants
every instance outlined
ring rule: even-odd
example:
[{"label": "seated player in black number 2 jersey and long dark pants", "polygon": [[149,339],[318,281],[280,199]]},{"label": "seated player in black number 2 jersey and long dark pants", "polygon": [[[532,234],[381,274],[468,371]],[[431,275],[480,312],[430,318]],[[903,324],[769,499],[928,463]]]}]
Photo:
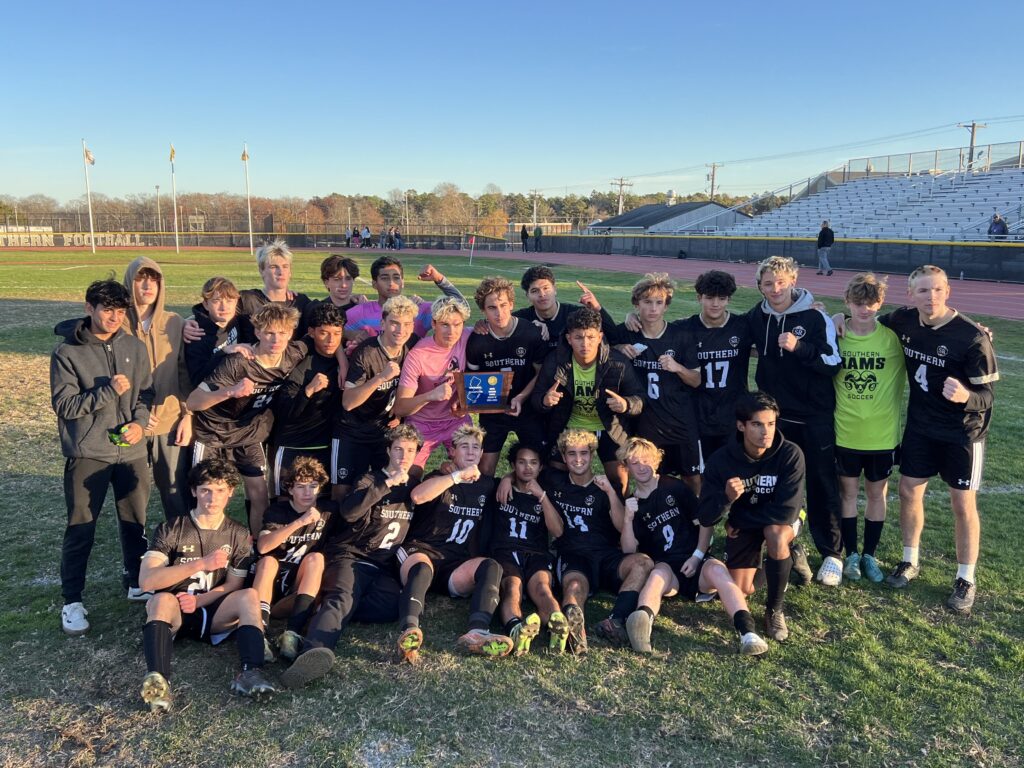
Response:
[{"label": "seated player in black number 2 jersey and long dark pants", "polygon": [[408,424],[387,434],[388,463],[364,475],[332,516],[321,540],[327,560],[319,607],[301,653],[282,675],[289,688],[324,677],[334,665],[334,649],[350,621],[380,624],[398,617],[401,586],[394,578],[395,550],[406,541],[413,519],[410,477],[422,438]]}]

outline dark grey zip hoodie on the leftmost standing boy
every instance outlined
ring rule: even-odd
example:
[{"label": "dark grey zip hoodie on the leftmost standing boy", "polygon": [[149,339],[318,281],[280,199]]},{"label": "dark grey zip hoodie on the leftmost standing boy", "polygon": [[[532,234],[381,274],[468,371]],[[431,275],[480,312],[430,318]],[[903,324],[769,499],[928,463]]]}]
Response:
[{"label": "dark grey zip hoodie on the leftmost standing boy", "polygon": [[[153,375],[145,346],[123,330],[101,341],[88,317],[65,321],[53,329],[63,337],[50,355],[50,403],[57,415],[60,451],[69,459],[134,461],[145,456],[145,441],[118,447],[108,430],[150,423]],[[119,395],[111,379],[124,374],[131,387]]]}]

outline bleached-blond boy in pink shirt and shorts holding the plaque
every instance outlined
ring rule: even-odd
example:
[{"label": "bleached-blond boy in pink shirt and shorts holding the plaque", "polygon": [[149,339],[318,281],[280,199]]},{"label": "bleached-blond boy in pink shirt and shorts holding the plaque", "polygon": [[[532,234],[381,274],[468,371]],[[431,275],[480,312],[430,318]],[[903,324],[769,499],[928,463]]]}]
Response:
[{"label": "bleached-blond boy in pink shirt and shorts holding the plaque", "polygon": [[443,445],[451,457],[453,433],[471,423],[455,386],[456,374],[466,369],[466,343],[472,333],[466,328],[469,307],[444,296],[433,303],[431,313],[434,333],[406,357],[394,403],[394,415],[423,436],[414,470],[420,473],[437,445]]}]

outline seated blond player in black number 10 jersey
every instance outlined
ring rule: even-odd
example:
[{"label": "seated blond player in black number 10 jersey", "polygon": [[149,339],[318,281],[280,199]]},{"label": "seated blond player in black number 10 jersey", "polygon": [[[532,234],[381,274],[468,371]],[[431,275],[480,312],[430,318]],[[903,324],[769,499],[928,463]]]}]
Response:
[{"label": "seated blond player in black number 10 jersey", "polygon": [[[423,645],[420,614],[433,589],[450,597],[469,597],[469,627],[458,646],[487,658],[508,655],[512,639],[493,634],[490,621],[498,608],[502,566],[481,557],[481,535],[494,515],[495,478],[481,475],[483,430],[471,424],[452,435],[455,471],[431,472],[411,493],[417,505],[408,542],[398,548],[403,585],[399,615],[398,656],[416,663]],[[537,634],[522,636],[523,650]]]}]

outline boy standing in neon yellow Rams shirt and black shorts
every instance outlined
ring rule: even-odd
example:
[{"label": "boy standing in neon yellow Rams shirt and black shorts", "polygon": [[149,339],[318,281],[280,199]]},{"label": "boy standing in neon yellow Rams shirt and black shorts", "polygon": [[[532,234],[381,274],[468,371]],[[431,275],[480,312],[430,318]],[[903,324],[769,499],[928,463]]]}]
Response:
[{"label": "boy standing in neon yellow Rams shirt and black shorts", "polygon": [[[886,519],[889,475],[900,437],[905,366],[903,349],[892,331],[877,319],[886,300],[886,282],[870,272],[855,274],[846,287],[850,319],[839,340],[843,370],[836,375],[836,468],[843,518],[840,526],[846,563],[843,574],[861,573],[881,582],[874,551]],[[857,495],[864,475],[864,546],[857,547]]]}]

